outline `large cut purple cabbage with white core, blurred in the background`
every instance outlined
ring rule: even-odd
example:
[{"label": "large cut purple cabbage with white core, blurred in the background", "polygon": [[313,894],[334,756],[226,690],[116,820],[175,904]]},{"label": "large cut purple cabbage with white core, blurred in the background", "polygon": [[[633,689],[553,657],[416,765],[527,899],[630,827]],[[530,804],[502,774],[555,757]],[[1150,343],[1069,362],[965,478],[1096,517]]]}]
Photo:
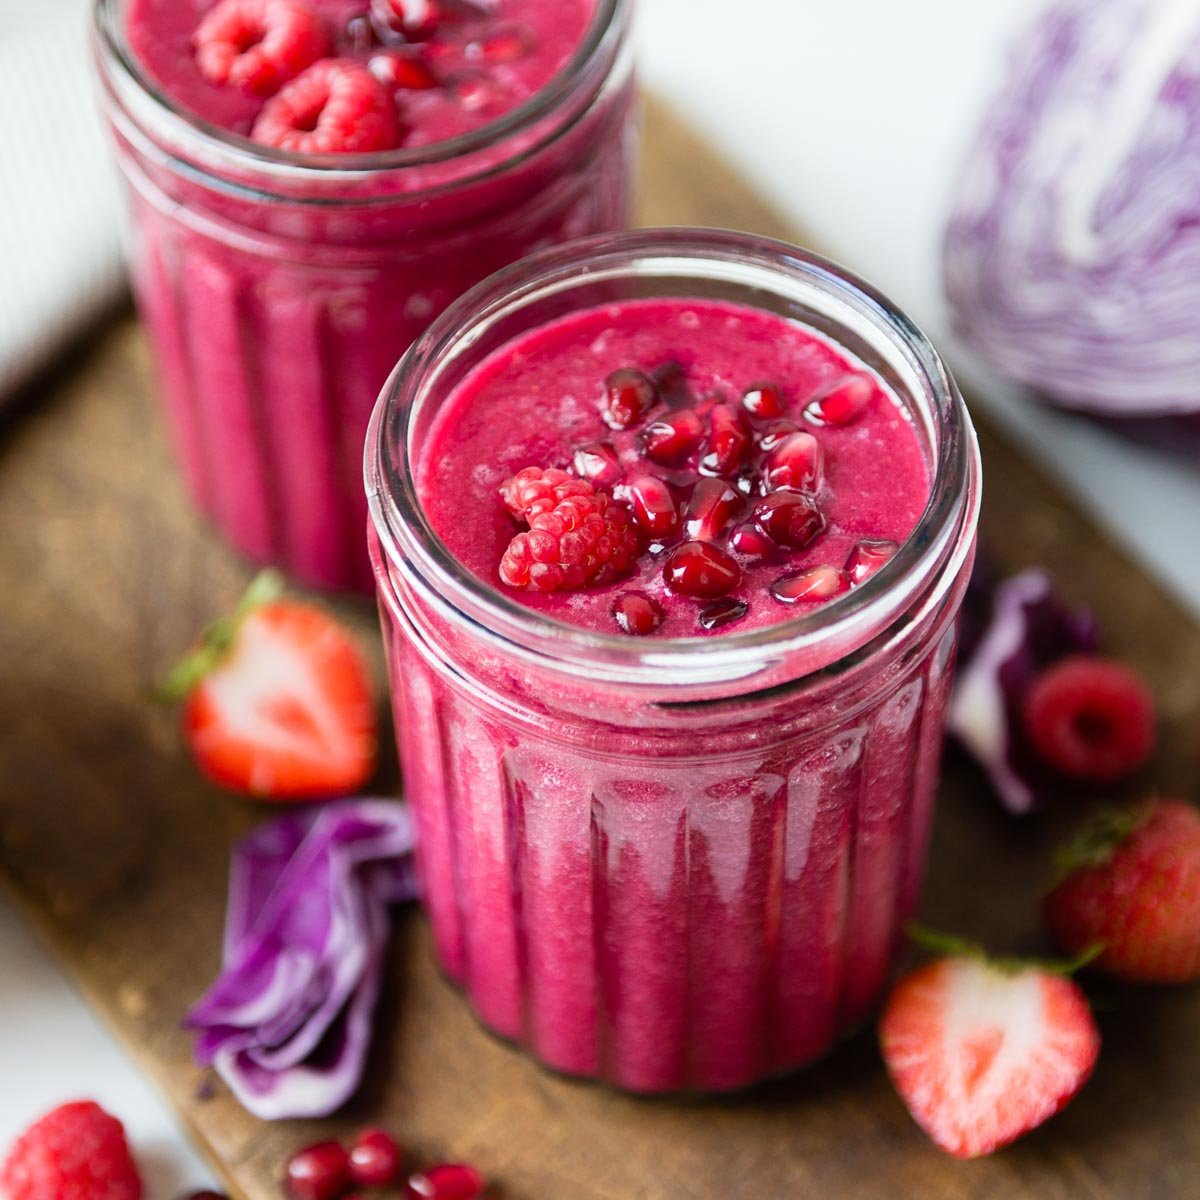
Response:
[{"label": "large cut purple cabbage with white core, blurred in the background", "polygon": [[959,332],[1106,416],[1200,413],[1200,8],[1058,0],[1018,41],[944,241]]}]

